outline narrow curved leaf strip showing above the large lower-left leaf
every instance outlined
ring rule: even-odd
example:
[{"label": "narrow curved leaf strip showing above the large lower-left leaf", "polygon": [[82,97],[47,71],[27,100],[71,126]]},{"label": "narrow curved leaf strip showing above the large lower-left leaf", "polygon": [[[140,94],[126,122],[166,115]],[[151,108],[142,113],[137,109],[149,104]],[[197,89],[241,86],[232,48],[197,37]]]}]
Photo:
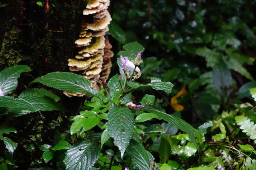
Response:
[{"label": "narrow curved leaf strip showing above the large lower-left leaf", "polygon": [[43,89],[43,88],[35,88],[35,89],[28,89],[24,92],[22,92],[19,97],[22,97],[23,95],[39,95],[39,96],[47,96],[47,97],[50,97],[52,98],[55,102],[58,102],[60,100],[60,97],[57,96],[56,94],[50,92],[50,91],[47,91],[46,89]]}]

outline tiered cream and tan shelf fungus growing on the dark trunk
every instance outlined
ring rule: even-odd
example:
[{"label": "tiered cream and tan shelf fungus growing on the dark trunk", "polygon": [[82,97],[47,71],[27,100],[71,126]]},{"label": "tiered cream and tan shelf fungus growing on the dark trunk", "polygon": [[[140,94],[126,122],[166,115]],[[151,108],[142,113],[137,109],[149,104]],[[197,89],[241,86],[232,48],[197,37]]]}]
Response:
[{"label": "tiered cream and tan shelf fungus growing on the dark trunk", "polygon": [[[83,10],[83,19],[79,39],[75,41],[78,49],[73,59],[68,59],[70,71],[76,72],[91,81],[91,86],[101,89],[96,79],[105,81],[109,78],[113,52],[106,32],[112,20],[108,7],[110,0],[89,0]],[[65,95],[84,96],[84,93],[64,92]]]}]

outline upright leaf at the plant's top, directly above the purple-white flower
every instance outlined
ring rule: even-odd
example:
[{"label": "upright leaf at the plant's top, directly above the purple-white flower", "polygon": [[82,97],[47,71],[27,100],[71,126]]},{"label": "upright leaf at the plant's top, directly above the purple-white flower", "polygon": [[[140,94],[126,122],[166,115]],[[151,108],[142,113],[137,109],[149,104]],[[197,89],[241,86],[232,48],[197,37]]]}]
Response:
[{"label": "upright leaf at the plant's top, directly above the purple-white flower", "polygon": [[134,60],[139,52],[145,50],[138,42],[130,42],[123,46],[123,48],[126,51],[119,51],[118,55],[128,57],[129,60]]}]

